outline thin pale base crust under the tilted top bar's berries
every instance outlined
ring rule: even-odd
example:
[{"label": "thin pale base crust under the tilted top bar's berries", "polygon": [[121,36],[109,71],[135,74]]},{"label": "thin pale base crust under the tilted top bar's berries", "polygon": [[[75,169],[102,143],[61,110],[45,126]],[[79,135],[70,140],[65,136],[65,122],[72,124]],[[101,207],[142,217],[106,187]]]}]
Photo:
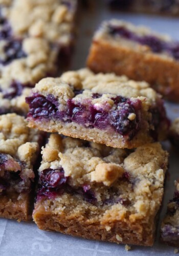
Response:
[{"label": "thin pale base crust under the tilted top bar's berries", "polygon": [[[123,137],[118,133],[107,134],[105,130],[102,131],[97,128],[87,129],[75,122],[64,123],[60,122],[59,120],[58,122],[55,122],[53,120],[45,119],[40,120],[40,122],[34,122],[33,120],[31,121],[30,118],[28,118],[28,126],[44,132],[55,133],[58,131],[59,134],[63,134],[65,136],[94,141],[96,143],[105,144],[111,147],[135,148],[143,145],[144,141],[145,143],[153,142],[152,137],[149,135],[149,132],[144,133],[140,131],[132,140],[123,140]],[[165,139],[165,133],[161,132],[159,140],[163,139]]]}]

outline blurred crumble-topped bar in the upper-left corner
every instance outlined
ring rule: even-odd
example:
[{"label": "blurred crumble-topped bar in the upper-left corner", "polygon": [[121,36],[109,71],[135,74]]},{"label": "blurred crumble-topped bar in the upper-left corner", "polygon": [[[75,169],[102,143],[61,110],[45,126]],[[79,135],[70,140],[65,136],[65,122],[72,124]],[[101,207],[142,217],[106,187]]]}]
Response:
[{"label": "blurred crumble-topped bar in the upper-left corner", "polygon": [[0,114],[26,115],[30,89],[41,78],[56,76],[64,56],[70,58],[77,1],[0,4]]}]

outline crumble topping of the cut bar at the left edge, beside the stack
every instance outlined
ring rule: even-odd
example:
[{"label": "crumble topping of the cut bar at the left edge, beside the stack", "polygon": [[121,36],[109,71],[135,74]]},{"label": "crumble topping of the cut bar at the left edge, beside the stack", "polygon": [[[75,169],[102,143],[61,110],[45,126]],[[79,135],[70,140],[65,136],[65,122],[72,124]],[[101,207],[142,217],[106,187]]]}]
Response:
[{"label": "crumble topping of the cut bar at the left edge, beside the stack", "polygon": [[0,153],[20,157],[21,161],[31,160],[38,148],[38,140],[39,132],[29,129],[24,117],[16,114],[0,116]]}]

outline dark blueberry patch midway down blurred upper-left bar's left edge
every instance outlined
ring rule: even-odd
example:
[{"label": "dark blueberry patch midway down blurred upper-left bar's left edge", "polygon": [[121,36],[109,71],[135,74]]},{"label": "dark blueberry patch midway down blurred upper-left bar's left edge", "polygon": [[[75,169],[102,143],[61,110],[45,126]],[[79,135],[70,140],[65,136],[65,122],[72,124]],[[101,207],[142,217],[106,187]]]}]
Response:
[{"label": "dark blueberry patch midway down blurred upper-left bar's left edge", "polygon": [[22,42],[20,40],[7,40],[4,46],[5,59],[0,59],[0,63],[8,65],[12,60],[26,57],[26,53],[23,51]]}]

